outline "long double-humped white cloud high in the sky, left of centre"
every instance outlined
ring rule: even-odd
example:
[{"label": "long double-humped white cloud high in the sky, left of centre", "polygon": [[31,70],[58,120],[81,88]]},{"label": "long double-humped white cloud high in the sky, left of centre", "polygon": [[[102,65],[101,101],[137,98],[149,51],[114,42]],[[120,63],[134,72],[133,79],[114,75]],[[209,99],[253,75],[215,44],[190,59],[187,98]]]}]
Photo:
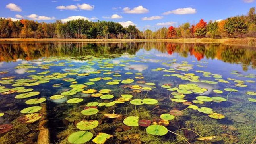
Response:
[{"label": "long double-humped white cloud high in the sky, left of centre", "polygon": [[60,5],[60,6],[57,6],[56,9],[60,9],[60,10],[87,10],[87,11],[91,11],[94,9],[94,5],[89,5],[89,4],[86,4],[86,3],[83,3],[83,4],[77,4],[77,5],[67,5],[67,6],[64,6],[64,5]]}]

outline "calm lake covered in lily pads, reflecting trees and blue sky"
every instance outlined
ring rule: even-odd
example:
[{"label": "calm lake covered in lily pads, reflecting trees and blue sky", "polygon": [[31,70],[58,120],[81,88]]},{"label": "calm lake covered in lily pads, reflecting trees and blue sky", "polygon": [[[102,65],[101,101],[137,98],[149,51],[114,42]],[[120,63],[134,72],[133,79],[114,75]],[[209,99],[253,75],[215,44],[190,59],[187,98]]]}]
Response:
[{"label": "calm lake covered in lily pads, reflecting trees and blue sky", "polygon": [[1,43],[0,141],[249,144],[255,68],[224,44]]}]

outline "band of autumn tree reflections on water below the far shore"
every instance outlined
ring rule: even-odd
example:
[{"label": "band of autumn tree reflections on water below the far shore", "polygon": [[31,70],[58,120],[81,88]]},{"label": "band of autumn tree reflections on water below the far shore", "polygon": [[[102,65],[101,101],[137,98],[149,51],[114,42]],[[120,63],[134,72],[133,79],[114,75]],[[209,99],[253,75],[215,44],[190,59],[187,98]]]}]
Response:
[{"label": "band of autumn tree reflections on water below the far shore", "polygon": [[182,57],[194,56],[197,60],[218,59],[223,62],[256,66],[256,50],[223,44],[187,43],[1,43],[0,61],[10,62],[17,59],[35,60],[41,57],[62,56],[79,57],[85,55],[102,56],[109,54],[135,55],[139,49],[156,49],[161,53],[178,53]]}]

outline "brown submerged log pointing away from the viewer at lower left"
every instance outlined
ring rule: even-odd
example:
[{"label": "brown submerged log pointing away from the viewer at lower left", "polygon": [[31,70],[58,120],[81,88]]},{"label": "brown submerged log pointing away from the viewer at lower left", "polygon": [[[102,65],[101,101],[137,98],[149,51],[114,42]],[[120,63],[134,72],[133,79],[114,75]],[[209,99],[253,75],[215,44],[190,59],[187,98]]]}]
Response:
[{"label": "brown submerged log pointing away from the viewer at lower left", "polygon": [[37,144],[49,144],[50,143],[50,133],[48,129],[48,119],[47,119],[47,107],[46,103],[41,103],[40,106],[42,109],[40,110],[40,114],[42,114],[42,118],[39,121],[39,134],[37,137]]}]

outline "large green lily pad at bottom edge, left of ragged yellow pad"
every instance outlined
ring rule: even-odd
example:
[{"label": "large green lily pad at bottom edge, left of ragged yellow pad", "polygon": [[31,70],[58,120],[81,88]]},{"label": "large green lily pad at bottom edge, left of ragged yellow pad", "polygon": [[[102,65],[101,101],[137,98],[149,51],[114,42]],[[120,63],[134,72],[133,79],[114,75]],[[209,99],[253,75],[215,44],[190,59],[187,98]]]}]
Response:
[{"label": "large green lily pad at bottom edge, left of ragged yellow pad", "polygon": [[81,144],[90,141],[93,137],[93,134],[88,131],[78,131],[74,132],[68,137],[68,141],[74,144]]}]

